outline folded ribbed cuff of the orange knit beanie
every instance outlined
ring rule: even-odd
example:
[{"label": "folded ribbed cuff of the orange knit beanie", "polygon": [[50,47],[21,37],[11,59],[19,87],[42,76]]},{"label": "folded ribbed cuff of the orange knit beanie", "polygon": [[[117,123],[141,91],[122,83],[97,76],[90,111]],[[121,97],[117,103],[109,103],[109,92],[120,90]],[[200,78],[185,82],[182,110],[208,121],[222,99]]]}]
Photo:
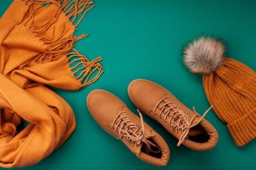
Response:
[{"label": "folded ribbed cuff of the orange knit beanie", "polygon": [[256,137],[256,108],[227,126],[236,145],[246,145]]}]

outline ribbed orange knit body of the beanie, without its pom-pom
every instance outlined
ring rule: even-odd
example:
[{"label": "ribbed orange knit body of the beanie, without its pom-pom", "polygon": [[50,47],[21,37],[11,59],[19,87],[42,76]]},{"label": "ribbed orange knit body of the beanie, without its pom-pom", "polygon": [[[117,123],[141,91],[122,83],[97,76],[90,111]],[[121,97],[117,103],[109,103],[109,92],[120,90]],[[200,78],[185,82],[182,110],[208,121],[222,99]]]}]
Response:
[{"label": "ribbed orange knit body of the beanie, without its pom-pom", "polygon": [[226,58],[223,66],[203,76],[205,94],[216,115],[227,124],[237,146],[256,136],[256,73]]}]

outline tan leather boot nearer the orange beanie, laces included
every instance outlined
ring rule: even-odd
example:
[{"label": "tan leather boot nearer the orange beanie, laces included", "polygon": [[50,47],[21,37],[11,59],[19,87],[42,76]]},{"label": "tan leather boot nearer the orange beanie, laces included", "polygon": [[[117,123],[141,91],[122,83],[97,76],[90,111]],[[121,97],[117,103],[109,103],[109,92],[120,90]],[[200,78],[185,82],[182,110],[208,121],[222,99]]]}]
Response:
[{"label": "tan leather boot nearer the orange beanie, laces included", "polygon": [[148,80],[134,80],[128,87],[132,103],[143,113],[153,118],[181,144],[193,150],[204,151],[216,146],[218,132],[195,111],[189,110],[175,96],[157,83]]}]

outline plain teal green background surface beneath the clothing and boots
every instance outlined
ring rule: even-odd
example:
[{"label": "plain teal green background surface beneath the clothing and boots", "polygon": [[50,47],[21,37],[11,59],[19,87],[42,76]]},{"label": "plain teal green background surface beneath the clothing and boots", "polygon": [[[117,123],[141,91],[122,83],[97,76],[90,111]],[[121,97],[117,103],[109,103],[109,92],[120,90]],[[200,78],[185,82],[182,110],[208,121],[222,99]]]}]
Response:
[{"label": "plain teal green background surface beneath the clothing and boots", "polygon": [[[0,14],[12,1],[0,1]],[[155,167],[137,159],[120,141],[104,132],[86,108],[93,89],[105,89],[120,97],[136,113],[127,85],[136,78],[156,81],[184,104],[203,113],[209,104],[200,75],[189,73],[182,63],[182,47],[205,34],[223,38],[227,55],[256,70],[256,1],[95,0],[97,7],[86,15],[76,34],[90,34],[76,48],[89,59],[103,57],[104,74],[77,92],[54,89],[76,114],[76,131],[68,141],[35,166],[24,169],[256,169],[255,140],[238,148],[223,124],[211,111],[207,120],[220,134],[216,148],[195,152],[176,146],[161,125],[148,117],[166,139],[171,159]],[[19,10],[19,9],[18,9]]]}]

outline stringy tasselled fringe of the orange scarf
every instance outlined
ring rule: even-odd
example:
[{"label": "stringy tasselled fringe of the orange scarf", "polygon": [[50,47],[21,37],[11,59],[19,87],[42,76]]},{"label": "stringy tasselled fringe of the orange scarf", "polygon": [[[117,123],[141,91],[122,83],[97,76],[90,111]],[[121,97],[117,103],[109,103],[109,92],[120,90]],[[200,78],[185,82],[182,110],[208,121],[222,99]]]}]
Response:
[{"label": "stringy tasselled fringe of the orange scarf", "polygon": [[[77,27],[80,24],[81,20],[85,17],[86,13],[90,11],[95,5],[90,0],[23,0],[27,5],[29,5],[29,11],[24,19],[24,25],[26,25],[30,31],[34,32],[38,38],[44,36],[45,32],[50,28],[52,29],[51,38],[40,38],[47,48],[44,53],[37,55],[33,60],[37,64],[42,64],[45,62],[51,62],[54,60],[58,60],[61,57],[68,57],[68,62],[70,64],[70,69],[76,79],[81,82],[81,85],[85,87],[86,85],[90,85],[95,82],[99,76],[103,73],[102,66],[99,64],[101,57],[98,57],[94,60],[88,60],[87,57],[81,55],[74,49],[74,43],[79,39],[82,39],[88,34],[82,34],[79,37],[70,36],[69,38],[63,38],[63,36],[67,33],[68,29],[65,27],[65,24],[61,27],[61,32],[56,38],[54,38],[55,34],[55,26],[52,26],[57,20],[60,13],[65,13],[68,20]],[[34,14],[40,8],[32,8],[33,4],[42,4],[41,8],[47,8],[51,4],[56,4],[58,6],[58,10],[55,11],[52,17],[44,23],[40,25],[33,24]],[[77,15],[83,13],[83,15],[78,19]],[[77,21],[77,22],[76,22]],[[75,24],[76,22],[76,24]],[[51,27],[52,26],[52,27]],[[72,51],[72,52],[71,52]],[[75,66],[71,66],[74,65]],[[98,71],[96,76],[92,79],[92,76],[95,71]],[[78,74],[76,76],[76,74]]]}]

